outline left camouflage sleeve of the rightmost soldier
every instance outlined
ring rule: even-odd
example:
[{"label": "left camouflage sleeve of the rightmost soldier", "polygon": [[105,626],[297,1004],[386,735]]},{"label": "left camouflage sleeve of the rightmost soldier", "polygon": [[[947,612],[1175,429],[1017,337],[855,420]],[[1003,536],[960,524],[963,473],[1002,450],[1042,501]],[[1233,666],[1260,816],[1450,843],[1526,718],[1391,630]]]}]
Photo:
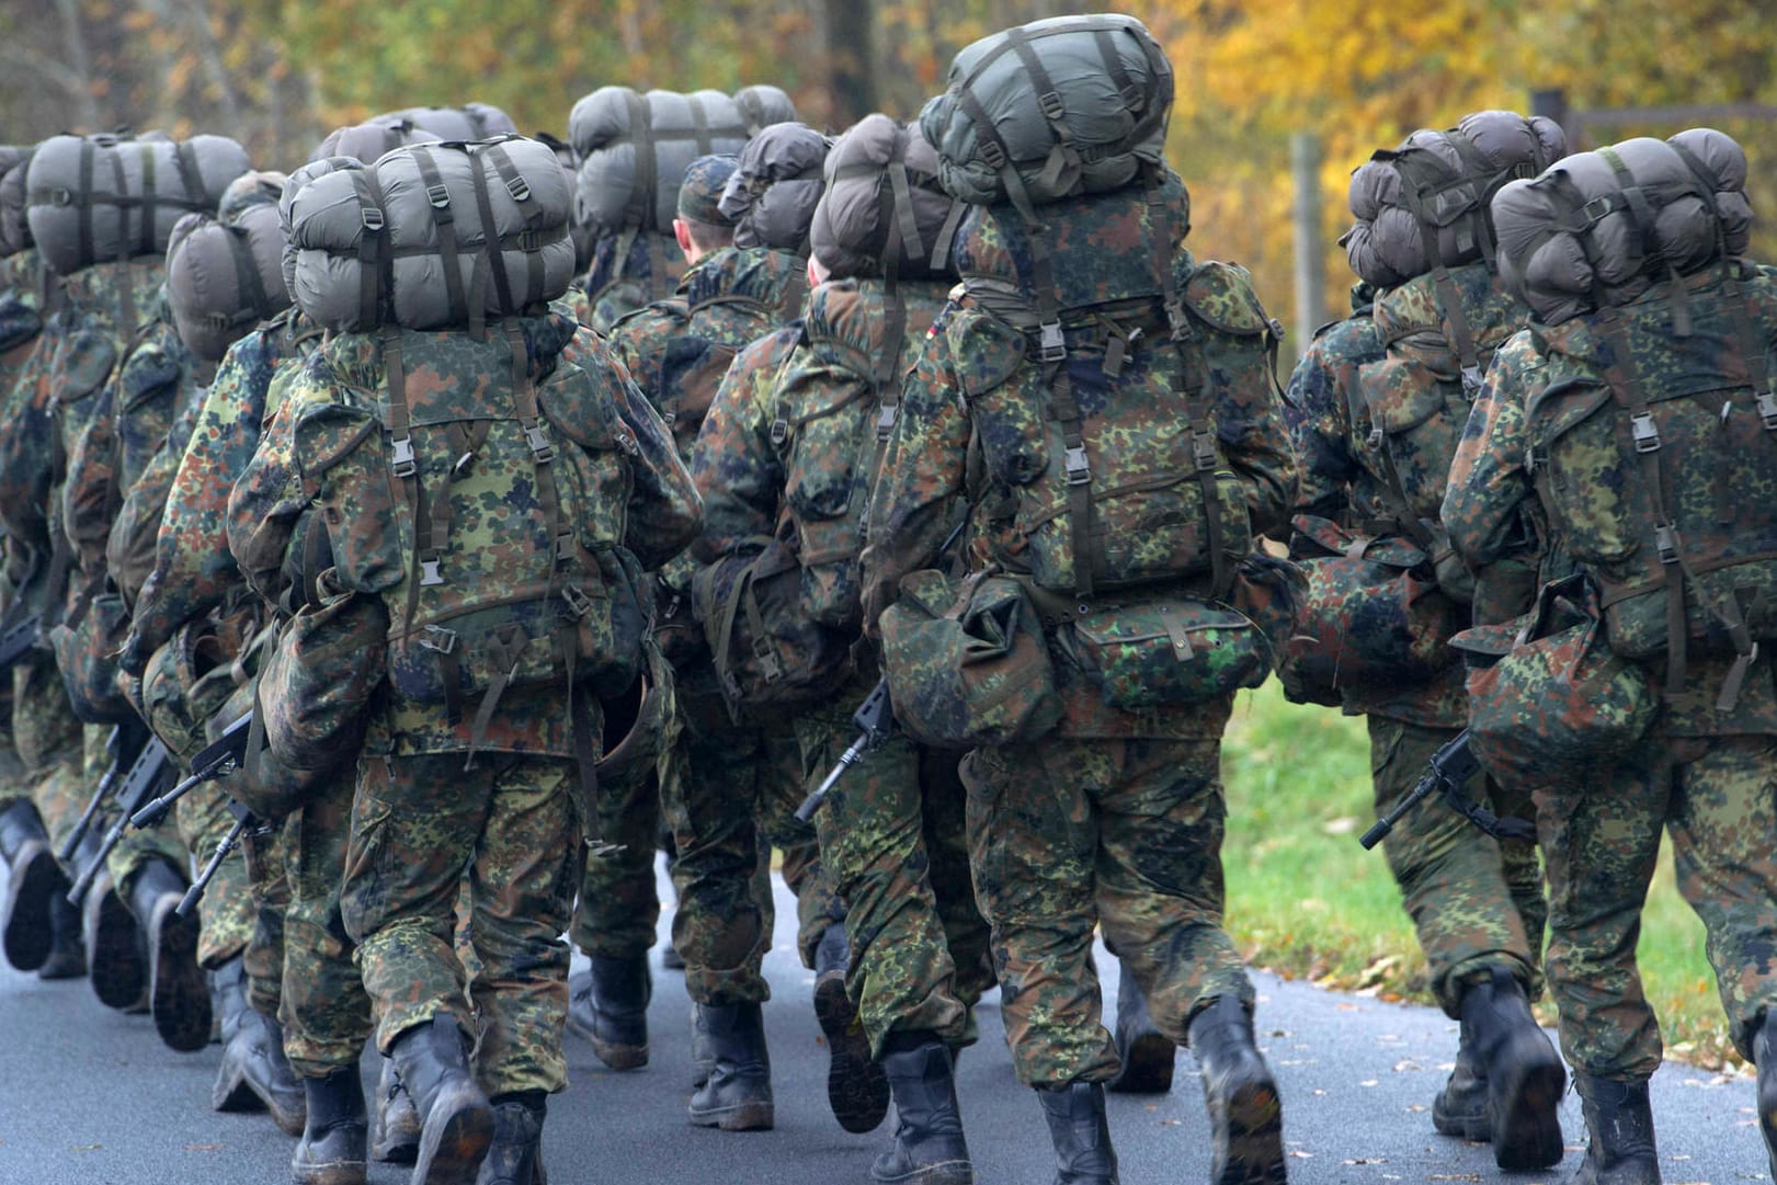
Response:
[{"label": "left camouflage sleeve of the rightmost soldier", "polygon": [[1471,570],[1523,551],[1521,506],[1535,497],[1525,400],[1544,370],[1530,334],[1507,341],[1487,368],[1450,465],[1443,524]]}]

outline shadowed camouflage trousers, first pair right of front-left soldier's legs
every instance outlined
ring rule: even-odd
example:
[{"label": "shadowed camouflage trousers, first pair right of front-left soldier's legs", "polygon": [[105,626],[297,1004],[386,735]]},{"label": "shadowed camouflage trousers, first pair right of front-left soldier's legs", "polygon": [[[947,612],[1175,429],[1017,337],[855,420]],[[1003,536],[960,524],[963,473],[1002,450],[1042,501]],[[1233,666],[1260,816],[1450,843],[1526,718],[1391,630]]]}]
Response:
[{"label": "shadowed camouflage trousers, first pair right of front-left soldier's legs", "polygon": [[814,947],[844,910],[826,888],[814,828],[800,823],[801,750],[793,734],[729,721],[714,686],[695,675],[679,686],[681,728],[665,760],[661,807],[672,828],[673,947],[697,1004],[771,998],[761,974],[771,949],[771,844],[784,851],[784,881],[796,894],[796,945]]}]

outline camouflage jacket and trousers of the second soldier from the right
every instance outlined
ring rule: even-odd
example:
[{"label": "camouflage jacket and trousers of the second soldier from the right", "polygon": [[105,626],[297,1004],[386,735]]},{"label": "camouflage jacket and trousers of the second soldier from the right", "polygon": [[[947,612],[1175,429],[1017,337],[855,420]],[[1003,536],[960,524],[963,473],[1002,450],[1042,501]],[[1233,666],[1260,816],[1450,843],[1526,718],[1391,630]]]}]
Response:
[{"label": "camouflage jacket and trousers of the second soldier from the right", "polygon": [[[1486,282],[1484,268],[1455,275]],[[1354,314],[1327,325],[1295,366],[1285,393],[1285,419],[1301,471],[1295,512],[1349,522],[1358,529],[1391,517],[1377,453],[1352,425],[1361,407],[1359,368],[1383,357],[1370,318],[1368,286],[1352,291]],[[1438,483],[1441,489],[1441,480]],[[1468,723],[1462,668],[1450,666],[1411,688],[1343,688],[1343,711],[1365,716],[1377,817],[1395,808],[1427,762]],[[1528,791],[1505,791],[1491,778],[1482,805],[1500,815],[1528,815]],[[1452,1018],[1462,990],[1503,965],[1532,997],[1541,991],[1542,874],[1535,847],[1496,840],[1462,815],[1429,801],[1407,814],[1383,842],[1430,972],[1432,993]]]}]

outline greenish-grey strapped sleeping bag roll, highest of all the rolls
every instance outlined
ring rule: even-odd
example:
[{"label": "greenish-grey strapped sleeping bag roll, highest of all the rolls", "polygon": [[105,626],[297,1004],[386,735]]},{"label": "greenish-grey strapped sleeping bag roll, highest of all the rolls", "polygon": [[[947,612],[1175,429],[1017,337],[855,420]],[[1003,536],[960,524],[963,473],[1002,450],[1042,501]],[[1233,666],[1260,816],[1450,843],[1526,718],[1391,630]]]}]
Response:
[{"label": "greenish-grey strapped sleeping bag roll, highest of all the rolls", "polygon": [[1134,16],[1056,16],[965,46],[919,126],[965,203],[1105,194],[1166,160],[1173,68]]}]

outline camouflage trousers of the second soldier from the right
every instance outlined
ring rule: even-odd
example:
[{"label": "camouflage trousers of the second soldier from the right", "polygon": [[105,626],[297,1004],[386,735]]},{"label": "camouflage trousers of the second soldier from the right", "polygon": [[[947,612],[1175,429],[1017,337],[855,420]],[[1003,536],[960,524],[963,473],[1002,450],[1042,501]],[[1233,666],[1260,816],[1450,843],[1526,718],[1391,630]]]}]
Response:
[{"label": "camouflage trousers of the second soldier from the right", "polygon": [[[1413,792],[1432,753],[1457,730],[1381,716],[1370,716],[1368,723],[1381,817]],[[1491,778],[1468,792],[1502,817],[1528,819],[1535,810],[1528,791],[1510,792]],[[1446,1016],[1462,1014],[1464,988],[1486,979],[1493,965],[1509,968],[1530,998],[1542,993],[1548,901],[1535,844],[1496,840],[1432,796],[1400,819],[1383,851]]]}]

